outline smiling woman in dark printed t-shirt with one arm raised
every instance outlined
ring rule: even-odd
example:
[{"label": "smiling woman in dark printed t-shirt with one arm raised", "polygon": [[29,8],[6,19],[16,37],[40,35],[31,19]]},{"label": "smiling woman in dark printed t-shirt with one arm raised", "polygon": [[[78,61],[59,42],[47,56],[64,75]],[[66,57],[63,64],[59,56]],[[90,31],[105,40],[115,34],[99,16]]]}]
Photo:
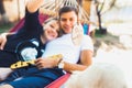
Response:
[{"label": "smiling woman in dark printed t-shirt with one arm raised", "polygon": [[[50,20],[43,26],[40,24],[37,9],[43,4],[43,0],[34,0],[34,2],[37,4],[33,6],[30,1],[28,3],[24,26],[18,33],[8,35],[4,48],[0,50],[0,67],[10,67],[20,59],[29,61],[40,57],[45,44],[58,36],[56,19]],[[33,53],[32,55],[28,48]],[[30,54],[26,55],[26,53]]]}]

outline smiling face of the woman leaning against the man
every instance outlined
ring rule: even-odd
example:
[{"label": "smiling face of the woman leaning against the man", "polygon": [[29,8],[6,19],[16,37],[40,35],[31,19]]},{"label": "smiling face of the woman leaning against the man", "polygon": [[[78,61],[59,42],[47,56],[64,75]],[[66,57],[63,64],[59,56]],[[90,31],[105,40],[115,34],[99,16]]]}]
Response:
[{"label": "smiling face of the woman leaning against the man", "polygon": [[44,37],[46,41],[52,41],[58,36],[59,25],[58,21],[51,20],[44,25]]}]

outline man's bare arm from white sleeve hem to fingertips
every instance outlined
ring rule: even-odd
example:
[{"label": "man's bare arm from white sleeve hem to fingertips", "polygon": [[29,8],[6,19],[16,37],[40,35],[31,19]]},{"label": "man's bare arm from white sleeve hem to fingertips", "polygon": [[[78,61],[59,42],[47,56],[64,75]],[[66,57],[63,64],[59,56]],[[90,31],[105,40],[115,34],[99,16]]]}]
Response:
[{"label": "man's bare arm from white sleeve hem to fingertips", "polygon": [[58,66],[63,63],[63,66],[61,66],[64,70],[68,73],[73,73],[74,70],[84,70],[92,63],[92,51],[90,50],[84,50],[80,53],[80,62],[78,64],[72,64],[58,59],[48,59],[40,57],[35,61],[35,65],[41,68],[53,68],[55,66]]}]

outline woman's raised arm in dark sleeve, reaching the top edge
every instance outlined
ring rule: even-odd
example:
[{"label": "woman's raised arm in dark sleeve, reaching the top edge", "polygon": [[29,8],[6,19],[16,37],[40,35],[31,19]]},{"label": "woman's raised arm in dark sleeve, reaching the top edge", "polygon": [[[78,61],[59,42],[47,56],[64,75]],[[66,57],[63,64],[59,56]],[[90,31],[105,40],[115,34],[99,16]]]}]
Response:
[{"label": "woman's raised arm in dark sleeve, reaching the top edge", "polygon": [[25,6],[25,22],[24,32],[30,33],[31,36],[40,35],[43,31],[38,20],[38,9],[42,7],[44,0],[29,0]]}]

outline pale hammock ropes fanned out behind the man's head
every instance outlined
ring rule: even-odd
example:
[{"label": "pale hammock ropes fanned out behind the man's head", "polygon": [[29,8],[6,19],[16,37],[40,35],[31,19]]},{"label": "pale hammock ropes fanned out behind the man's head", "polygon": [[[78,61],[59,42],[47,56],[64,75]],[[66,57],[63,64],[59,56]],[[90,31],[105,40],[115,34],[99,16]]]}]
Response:
[{"label": "pale hammock ropes fanned out behind the man's head", "polygon": [[41,8],[41,11],[44,14],[56,16],[58,15],[57,12],[62,7],[72,6],[72,7],[77,8],[77,10],[79,11],[78,18],[81,22],[86,22],[88,24],[90,23],[89,14],[86,12],[86,10],[78,4],[76,0],[44,0],[44,1],[45,2],[43,7]]}]

